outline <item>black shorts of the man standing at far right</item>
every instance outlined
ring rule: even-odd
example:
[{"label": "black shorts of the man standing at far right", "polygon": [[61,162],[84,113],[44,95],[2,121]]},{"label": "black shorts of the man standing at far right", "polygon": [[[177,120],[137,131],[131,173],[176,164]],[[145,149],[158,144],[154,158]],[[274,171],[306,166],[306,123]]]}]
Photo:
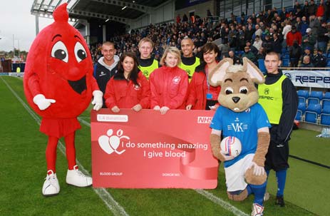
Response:
[{"label": "black shorts of the man standing at far right", "polygon": [[269,143],[266,162],[264,163],[265,170],[286,170],[289,168],[289,143],[288,141],[280,144],[275,144],[272,140]]}]

